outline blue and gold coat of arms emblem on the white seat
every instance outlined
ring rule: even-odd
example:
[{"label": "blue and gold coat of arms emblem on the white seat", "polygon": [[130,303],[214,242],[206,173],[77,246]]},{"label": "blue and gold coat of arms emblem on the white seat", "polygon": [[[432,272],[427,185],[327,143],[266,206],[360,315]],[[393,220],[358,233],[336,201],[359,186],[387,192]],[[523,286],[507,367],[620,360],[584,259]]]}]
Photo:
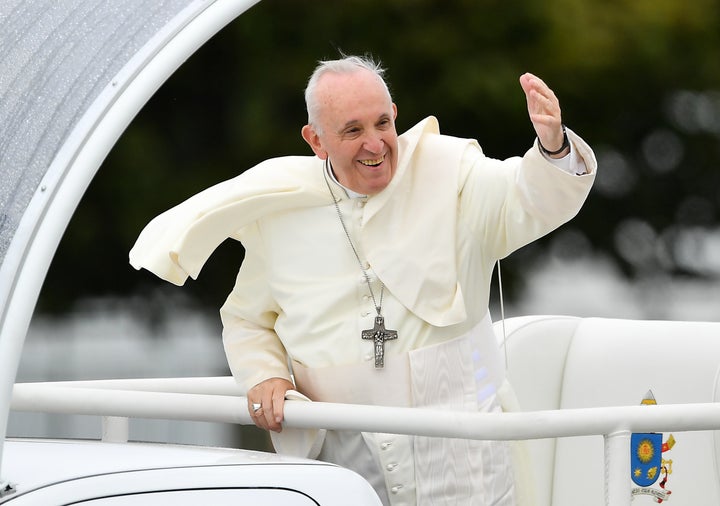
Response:
[{"label": "blue and gold coat of arms emblem on the white seat", "polygon": [[[648,391],[642,404],[657,404],[652,391]],[[662,503],[670,498],[672,492],[667,486],[673,462],[663,458],[663,453],[672,449],[675,438],[670,434],[665,443],[662,438],[662,433],[658,432],[633,433],[630,437],[630,478],[638,485],[632,489],[633,499],[638,495],[649,495],[655,502]]]}]

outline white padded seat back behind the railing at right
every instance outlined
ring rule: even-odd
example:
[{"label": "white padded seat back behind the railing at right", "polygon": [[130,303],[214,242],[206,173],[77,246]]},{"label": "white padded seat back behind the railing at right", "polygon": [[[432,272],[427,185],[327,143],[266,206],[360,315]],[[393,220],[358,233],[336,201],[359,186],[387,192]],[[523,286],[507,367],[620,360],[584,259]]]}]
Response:
[{"label": "white padded seat back behind the railing at right", "polygon": [[[495,330],[502,338],[501,323]],[[506,320],[505,331],[525,411],[638,405],[649,390],[658,404],[720,401],[720,323],[530,316]],[[720,431],[674,438],[663,454],[673,460],[670,502],[720,504]],[[539,506],[605,504],[601,436],[530,441],[528,451]]]}]

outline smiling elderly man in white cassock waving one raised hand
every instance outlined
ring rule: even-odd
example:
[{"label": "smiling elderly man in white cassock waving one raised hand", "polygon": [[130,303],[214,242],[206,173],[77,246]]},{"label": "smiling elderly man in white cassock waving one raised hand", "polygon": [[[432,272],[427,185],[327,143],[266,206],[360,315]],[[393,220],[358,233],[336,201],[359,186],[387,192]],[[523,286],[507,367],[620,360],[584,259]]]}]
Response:
[{"label": "smiling elderly man in white cassock waving one raised hand", "polygon": [[369,58],[321,62],[302,129],[315,156],[267,160],[163,213],[131,263],[182,284],[224,239],[242,241],[223,342],[277,451],[353,469],[393,506],[520,504],[506,442],[281,431],[284,402],[299,394],[507,407],[488,314],[494,264],[575,216],[595,177],[592,150],[531,74],[520,85],[537,139],[508,160],[441,135],[433,117],[398,136],[382,76]]}]

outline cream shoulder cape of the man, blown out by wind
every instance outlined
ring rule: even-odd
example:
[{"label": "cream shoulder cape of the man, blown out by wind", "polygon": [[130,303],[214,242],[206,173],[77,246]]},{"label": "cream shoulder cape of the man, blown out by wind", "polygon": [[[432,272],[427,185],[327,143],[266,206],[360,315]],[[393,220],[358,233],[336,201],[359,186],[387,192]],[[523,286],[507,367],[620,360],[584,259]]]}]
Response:
[{"label": "cream shoulder cape of the man, blown out by wind", "polygon": [[[362,243],[388,290],[432,325],[466,318],[457,282],[455,220],[460,159],[475,141],[439,135],[434,117],[399,136],[393,180],[368,199]],[[330,205],[323,163],[273,158],[208,188],[153,219],[130,251],[130,264],[182,285],[212,252],[257,219]],[[428,230],[432,239],[428,240]]]}]

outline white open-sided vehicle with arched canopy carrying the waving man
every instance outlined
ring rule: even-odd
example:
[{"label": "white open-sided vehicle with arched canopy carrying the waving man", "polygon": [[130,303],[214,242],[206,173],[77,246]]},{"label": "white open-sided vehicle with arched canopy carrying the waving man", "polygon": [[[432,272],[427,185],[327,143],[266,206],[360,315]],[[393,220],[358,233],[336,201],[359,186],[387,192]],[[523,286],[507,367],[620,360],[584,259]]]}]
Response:
[{"label": "white open-sided vehicle with arched canopy carrying the waving man", "polygon": [[[380,504],[335,465],[128,441],[135,418],[251,424],[232,377],[15,383],[50,262],[102,161],[165,80],[255,3],[3,3],[0,504]],[[547,315],[494,330],[515,411],[290,400],[285,429],[515,441],[523,504],[720,504],[720,323]],[[102,438],[7,437],[11,410],[92,415]]]}]

